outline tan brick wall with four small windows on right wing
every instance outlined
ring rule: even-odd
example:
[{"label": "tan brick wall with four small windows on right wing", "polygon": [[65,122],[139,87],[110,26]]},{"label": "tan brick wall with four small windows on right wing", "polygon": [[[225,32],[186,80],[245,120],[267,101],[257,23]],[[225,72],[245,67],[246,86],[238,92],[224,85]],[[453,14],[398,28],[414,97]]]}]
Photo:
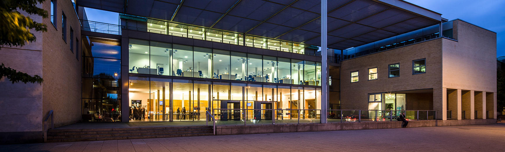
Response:
[{"label": "tan brick wall with four small windows on right wing", "polygon": [[[412,61],[423,58],[426,58],[426,73],[413,75]],[[388,78],[388,65],[395,63],[400,63],[400,76]],[[377,67],[378,79],[369,81],[368,68],[373,67]],[[359,82],[350,83],[350,72],[357,70]],[[434,110],[440,110],[441,39],[342,61],[340,77],[342,109],[368,109],[368,93],[432,88]]]}]

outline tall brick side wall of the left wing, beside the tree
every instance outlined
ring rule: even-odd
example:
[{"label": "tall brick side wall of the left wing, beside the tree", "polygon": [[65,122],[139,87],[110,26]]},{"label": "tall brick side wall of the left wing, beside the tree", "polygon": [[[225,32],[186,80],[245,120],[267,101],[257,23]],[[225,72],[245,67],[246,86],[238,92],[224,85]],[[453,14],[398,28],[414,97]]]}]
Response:
[{"label": "tall brick side wall of the left wing, beside the tree", "polygon": [[[81,49],[76,59],[76,38],[81,41],[80,24],[71,1],[57,1],[57,14],[53,26],[49,18],[43,19],[47,25],[42,45],[42,116],[54,110],[55,126],[76,123],[81,119]],[[51,2],[45,1],[43,8],[51,10]],[[62,38],[62,12],[67,17],[67,41]],[[70,28],[74,30],[70,50]],[[79,47],[81,44],[79,43]]]}]

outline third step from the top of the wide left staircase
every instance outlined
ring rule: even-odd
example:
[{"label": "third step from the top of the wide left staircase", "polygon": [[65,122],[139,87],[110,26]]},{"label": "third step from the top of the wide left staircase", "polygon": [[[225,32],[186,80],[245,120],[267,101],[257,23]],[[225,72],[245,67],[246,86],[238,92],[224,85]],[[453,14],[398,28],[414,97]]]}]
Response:
[{"label": "third step from the top of the wide left staircase", "polygon": [[144,133],[83,134],[83,135],[60,135],[60,136],[48,135],[47,139],[125,137],[125,136],[173,135],[173,134],[194,134],[194,133],[213,133],[213,131],[200,130],[200,131],[167,131],[167,132],[144,132]]}]

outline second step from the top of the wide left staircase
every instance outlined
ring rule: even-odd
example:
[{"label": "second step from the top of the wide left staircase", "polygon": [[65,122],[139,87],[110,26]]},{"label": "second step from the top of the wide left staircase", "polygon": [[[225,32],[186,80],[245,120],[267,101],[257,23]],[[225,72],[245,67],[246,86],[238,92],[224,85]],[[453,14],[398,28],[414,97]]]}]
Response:
[{"label": "second step from the top of the wide left staircase", "polygon": [[63,132],[50,131],[47,133],[47,135],[61,136],[61,135],[82,135],[82,134],[145,133],[145,132],[204,131],[204,130],[212,130],[212,127],[184,128],[184,129],[117,130],[117,131],[63,131]]}]

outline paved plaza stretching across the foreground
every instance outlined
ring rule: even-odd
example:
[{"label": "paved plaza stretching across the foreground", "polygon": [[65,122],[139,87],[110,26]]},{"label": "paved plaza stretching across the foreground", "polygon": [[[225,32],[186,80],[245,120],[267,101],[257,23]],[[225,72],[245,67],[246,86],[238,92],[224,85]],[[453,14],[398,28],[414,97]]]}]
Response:
[{"label": "paved plaza stretching across the foreground", "polygon": [[0,151],[505,151],[505,123],[0,145]]}]

